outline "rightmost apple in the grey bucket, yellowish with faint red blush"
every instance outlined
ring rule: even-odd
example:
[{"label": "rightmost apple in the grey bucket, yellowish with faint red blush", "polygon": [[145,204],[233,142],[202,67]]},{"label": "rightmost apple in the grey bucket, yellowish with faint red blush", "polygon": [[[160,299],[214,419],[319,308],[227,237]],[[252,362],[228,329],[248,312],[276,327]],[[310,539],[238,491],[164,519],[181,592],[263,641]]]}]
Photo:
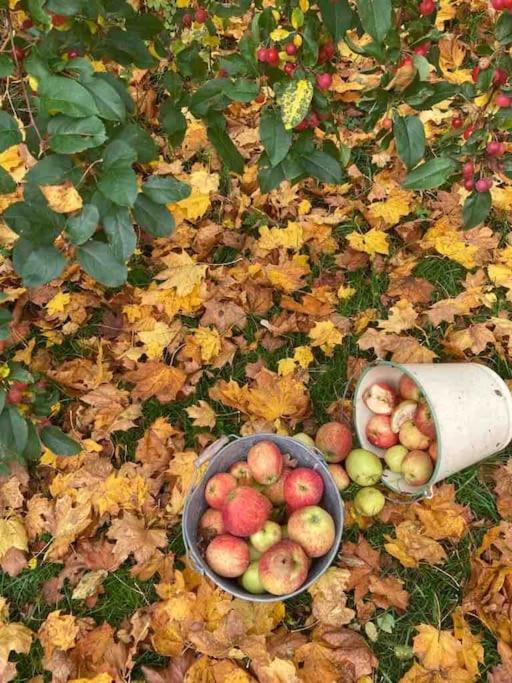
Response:
[{"label": "rightmost apple in the grey bucket, yellowish with faint red blush", "polygon": [[308,557],[322,557],[329,552],[335,536],[333,518],[318,505],[299,508],[288,519],[288,537],[299,543]]}]

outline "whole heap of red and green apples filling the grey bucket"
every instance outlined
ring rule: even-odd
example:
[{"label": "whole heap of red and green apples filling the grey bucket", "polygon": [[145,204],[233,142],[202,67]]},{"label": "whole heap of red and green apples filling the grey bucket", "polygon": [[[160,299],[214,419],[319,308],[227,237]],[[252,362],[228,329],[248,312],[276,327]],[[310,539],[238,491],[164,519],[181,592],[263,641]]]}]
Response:
[{"label": "whole heap of red and green apples filling the grey bucket", "polygon": [[199,520],[204,557],[219,576],[254,594],[293,593],[311,560],[331,549],[336,529],[321,506],[324,482],[293,463],[272,441],[253,445],[247,460],[206,482],[208,509]]}]

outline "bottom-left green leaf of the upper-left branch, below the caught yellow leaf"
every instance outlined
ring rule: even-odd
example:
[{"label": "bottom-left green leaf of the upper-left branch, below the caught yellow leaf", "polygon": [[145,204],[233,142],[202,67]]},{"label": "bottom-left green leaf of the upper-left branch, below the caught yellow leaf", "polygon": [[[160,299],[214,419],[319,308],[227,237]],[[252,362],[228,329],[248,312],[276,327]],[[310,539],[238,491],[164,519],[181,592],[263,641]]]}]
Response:
[{"label": "bottom-left green leaf of the upper-left branch, below the caught yellow leaf", "polygon": [[51,282],[64,270],[66,259],[53,245],[37,246],[19,239],[14,245],[14,269],[25,287],[39,287]]}]

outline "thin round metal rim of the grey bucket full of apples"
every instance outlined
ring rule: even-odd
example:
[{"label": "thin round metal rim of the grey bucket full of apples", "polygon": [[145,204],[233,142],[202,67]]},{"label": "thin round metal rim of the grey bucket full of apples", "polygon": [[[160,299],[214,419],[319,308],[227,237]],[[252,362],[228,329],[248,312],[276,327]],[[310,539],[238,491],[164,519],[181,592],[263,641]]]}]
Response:
[{"label": "thin round metal rim of the grey bucket full of apples", "polygon": [[[235,436],[235,435],[232,435]],[[313,455],[315,460],[319,463],[321,466],[322,470],[322,477],[325,477],[328,479],[333,487],[333,490],[336,491],[337,495],[337,505],[338,505],[338,512],[339,512],[339,523],[335,520],[335,537],[334,537],[334,543],[326,555],[323,556],[323,558],[318,558],[319,560],[322,560],[324,558],[328,558],[329,563],[325,567],[325,569],[322,571],[321,574],[318,576],[314,576],[311,578],[306,579],[306,581],[299,586],[295,591],[291,593],[286,593],[284,595],[272,595],[271,593],[264,593],[264,594],[251,594],[248,591],[245,591],[244,589],[240,588],[240,590],[244,590],[244,595],[237,595],[236,593],[232,592],[229,590],[229,588],[225,588],[224,586],[219,584],[218,578],[216,573],[208,567],[206,564],[204,558],[201,555],[198,555],[194,549],[194,544],[192,543],[191,539],[189,538],[188,534],[188,529],[187,529],[187,524],[186,524],[186,519],[189,514],[189,508],[190,505],[192,504],[192,498],[193,496],[198,492],[198,488],[201,484],[201,482],[204,480],[208,469],[210,466],[213,464],[213,461],[216,456],[221,455],[225,449],[227,449],[229,446],[232,446],[234,443],[238,443],[239,441],[250,441],[254,439],[254,437],[261,437],[261,440],[264,440],[265,438],[268,438],[269,440],[271,439],[279,439],[283,441],[291,441],[293,442],[293,445],[296,447],[299,447],[299,449],[307,452],[309,455]],[[258,432],[256,434],[248,434],[246,436],[241,436],[241,437],[236,437],[236,441],[233,441],[230,439],[228,443],[226,443],[216,454],[215,456],[210,460],[210,462],[207,464],[206,469],[204,470],[202,476],[199,478],[199,480],[193,485],[193,487],[190,489],[190,491],[187,494],[187,498],[185,501],[185,506],[183,508],[183,522],[182,522],[182,535],[183,535],[183,541],[185,544],[185,549],[186,549],[186,554],[188,559],[192,562],[192,565],[194,569],[201,575],[207,576],[213,583],[217,586],[217,588],[220,588],[221,590],[224,590],[225,592],[229,593],[232,595],[234,598],[238,598],[239,600],[247,600],[249,602],[261,602],[261,603],[273,603],[273,602],[282,602],[284,600],[289,600],[297,595],[300,595],[304,591],[308,590],[308,588],[315,583],[326,571],[329,569],[329,567],[332,566],[332,563],[339,552],[339,547],[343,535],[343,522],[344,522],[344,513],[345,505],[343,498],[341,497],[338,489],[336,488],[336,484],[334,482],[334,479],[332,477],[332,474],[330,473],[327,463],[323,459],[323,456],[321,455],[320,451],[313,449],[310,446],[306,446],[306,444],[303,444],[300,441],[297,441],[297,439],[293,439],[291,436],[285,436],[282,434],[274,434],[272,432]],[[221,577],[223,578],[223,577]]]}]

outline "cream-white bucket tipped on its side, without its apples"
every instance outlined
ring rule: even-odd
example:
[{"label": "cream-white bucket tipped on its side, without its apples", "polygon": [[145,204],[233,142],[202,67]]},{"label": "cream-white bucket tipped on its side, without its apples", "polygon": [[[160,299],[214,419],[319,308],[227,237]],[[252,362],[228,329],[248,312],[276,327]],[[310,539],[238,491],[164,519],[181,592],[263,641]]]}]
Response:
[{"label": "cream-white bucket tipped on its side, without its apples", "polygon": [[370,366],[356,388],[355,426],[363,448],[384,456],[385,451],[366,438],[366,424],[372,413],[363,401],[365,390],[375,382],[398,388],[403,373],[416,382],[429,405],[436,426],[437,460],[432,477],[424,486],[410,486],[400,475],[385,471],[383,482],[389,488],[400,493],[426,494],[436,482],[501,451],[512,439],[510,390],[485,365],[399,365],[383,361]]}]

